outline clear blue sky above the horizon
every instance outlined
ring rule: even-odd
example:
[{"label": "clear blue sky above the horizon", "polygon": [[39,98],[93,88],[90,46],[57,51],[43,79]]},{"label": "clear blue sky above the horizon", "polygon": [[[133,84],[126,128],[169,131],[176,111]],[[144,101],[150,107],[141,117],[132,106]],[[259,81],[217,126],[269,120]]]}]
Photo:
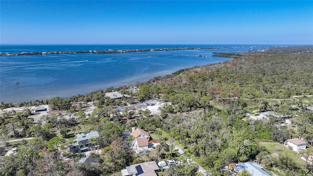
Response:
[{"label": "clear blue sky above the horizon", "polygon": [[0,0],[1,44],[313,44],[313,1]]}]

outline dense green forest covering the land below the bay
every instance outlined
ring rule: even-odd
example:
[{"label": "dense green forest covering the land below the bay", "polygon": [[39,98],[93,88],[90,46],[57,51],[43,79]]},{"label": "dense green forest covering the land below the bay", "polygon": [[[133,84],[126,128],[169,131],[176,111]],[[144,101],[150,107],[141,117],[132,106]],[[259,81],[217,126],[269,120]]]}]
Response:
[{"label": "dense green forest covering the land below the bay", "polygon": [[[0,175],[112,175],[134,163],[181,159],[171,149],[171,143],[181,146],[212,176],[229,175],[229,170],[221,168],[245,161],[256,161],[279,176],[313,175],[312,163],[295,160],[279,145],[290,138],[301,138],[311,147],[301,151],[305,153],[302,155],[313,155],[313,111],[307,109],[313,106],[313,47],[271,47],[215,56],[232,59],[181,69],[134,86],[15,105],[1,103],[1,110],[26,107],[22,112],[12,110],[0,116],[4,145],[11,145],[7,142],[9,137],[35,138],[23,140],[17,154],[1,158]],[[133,91],[134,87],[137,91]],[[113,90],[130,96],[118,100],[105,96]],[[149,110],[114,109],[151,99],[173,105],[165,103],[158,115],[151,115]],[[84,112],[88,102],[96,106],[91,114]],[[45,123],[34,125],[33,112],[27,107],[43,104],[58,113],[44,115],[40,122]],[[277,127],[274,124],[285,119],[270,115],[264,120],[254,120],[247,115],[265,111],[284,115],[292,124]],[[71,118],[62,118],[62,113]],[[131,139],[123,140],[122,132],[132,127],[150,132],[159,140],[155,155],[139,156],[126,147]],[[64,152],[63,155],[72,158],[65,161],[55,153],[66,151],[75,133],[93,130],[100,135],[95,142],[103,153],[94,156],[102,159],[100,164],[90,168],[77,164],[80,155]],[[278,156],[270,155],[272,152],[262,143],[277,144]],[[201,175],[187,163],[165,172],[168,176]]]}]

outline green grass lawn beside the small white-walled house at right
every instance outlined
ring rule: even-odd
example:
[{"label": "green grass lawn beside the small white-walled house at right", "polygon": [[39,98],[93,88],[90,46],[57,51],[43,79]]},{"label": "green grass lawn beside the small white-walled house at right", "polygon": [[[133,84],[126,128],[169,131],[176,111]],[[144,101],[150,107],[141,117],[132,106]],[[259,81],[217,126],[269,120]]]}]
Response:
[{"label": "green grass lawn beside the small white-walled house at right", "polygon": [[[275,143],[275,142],[260,142],[261,146],[264,146],[269,153],[271,154],[279,154],[279,153],[287,153],[291,155],[291,157],[301,166],[305,166],[305,160],[300,158],[300,154],[289,150],[286,146],[280,144],[280,143]],[[281,151],[277,152],[275,147],[278,146],[280,147]]]}]

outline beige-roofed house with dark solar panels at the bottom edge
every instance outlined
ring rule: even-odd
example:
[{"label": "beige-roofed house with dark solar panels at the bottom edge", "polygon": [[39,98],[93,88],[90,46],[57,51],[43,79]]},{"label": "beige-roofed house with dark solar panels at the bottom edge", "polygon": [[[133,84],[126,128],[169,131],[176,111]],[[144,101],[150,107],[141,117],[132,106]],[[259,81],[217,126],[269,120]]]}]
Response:
[{"label": "beige-roofed house with dark solar panels at the bottom edge", "polygon": [[157,176],[156,172],[159,170],[156,161],[150,161],[128,166],[121,173],[122,176]]}]

